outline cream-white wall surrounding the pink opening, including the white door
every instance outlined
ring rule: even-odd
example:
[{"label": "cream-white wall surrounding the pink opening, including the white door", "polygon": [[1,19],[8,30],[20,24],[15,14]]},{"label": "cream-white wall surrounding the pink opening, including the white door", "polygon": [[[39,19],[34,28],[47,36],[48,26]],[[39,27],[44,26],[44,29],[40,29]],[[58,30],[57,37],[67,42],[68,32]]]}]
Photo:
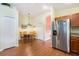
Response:
[{"label": "cream-white wall surrounding the pink opening, including the white door", "polygon": [[36,17],[35,19],[35,23],[34,25],[37,27],[37,38],[40,39],[40,40],[48,40],[48,39],[51,39],[51,31],[52,29],[50,28],[50,35],[49,33],[46,33],[45,32],[45,27],[46,27],[46,17],[47,16],[51,16],[51,23],[52,21],[55,19],[54,18],[54,9],[53,8],[50,8],[49,11],[47,11],[46,13],[43,13],[41,14],[40,16]]}]

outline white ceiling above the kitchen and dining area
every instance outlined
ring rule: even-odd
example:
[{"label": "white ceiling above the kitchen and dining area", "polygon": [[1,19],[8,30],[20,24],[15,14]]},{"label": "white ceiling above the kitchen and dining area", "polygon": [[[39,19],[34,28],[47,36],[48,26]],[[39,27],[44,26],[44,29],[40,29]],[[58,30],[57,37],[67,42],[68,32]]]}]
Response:
[{"label": "white ceiling above the kitchen and dining area", "polygon": [[49,10],[43,10],[44,5],[48,7],[52,6],[55,10],[63,10],[67,8],[78,7],[79,3],[13,3],[12,5],[15,6],[23,15],[31,13],[32,16],[36,16]]}]

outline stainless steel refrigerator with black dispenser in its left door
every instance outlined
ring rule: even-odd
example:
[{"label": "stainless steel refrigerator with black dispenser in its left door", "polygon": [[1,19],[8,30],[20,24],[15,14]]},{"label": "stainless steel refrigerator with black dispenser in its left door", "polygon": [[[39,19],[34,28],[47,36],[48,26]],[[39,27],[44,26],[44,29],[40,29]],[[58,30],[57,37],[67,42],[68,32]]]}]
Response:
[{"label": "stainless steel refrigerator with black dispenser in its left door", "polygon": [[70,52],[70,21],[57,20],[52,22],[52,47]]}]

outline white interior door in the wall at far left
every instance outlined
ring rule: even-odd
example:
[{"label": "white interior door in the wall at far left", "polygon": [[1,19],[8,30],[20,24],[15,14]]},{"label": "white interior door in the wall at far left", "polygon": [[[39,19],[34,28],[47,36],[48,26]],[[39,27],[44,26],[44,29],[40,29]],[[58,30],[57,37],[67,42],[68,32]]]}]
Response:
[{"label": "white interior door in the wall at far left", "polygon": [[3,48],[10,48],[17,42],[17,24],[14,17],[5,16],[3,19]]}]

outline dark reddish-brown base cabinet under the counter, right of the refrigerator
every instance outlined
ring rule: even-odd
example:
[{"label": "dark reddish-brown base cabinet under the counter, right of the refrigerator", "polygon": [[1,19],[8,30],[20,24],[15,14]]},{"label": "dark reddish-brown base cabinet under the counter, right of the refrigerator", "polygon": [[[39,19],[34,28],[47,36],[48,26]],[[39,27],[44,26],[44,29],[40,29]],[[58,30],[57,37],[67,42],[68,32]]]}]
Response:
[{"label": "dark reddish-brown base cabinet under the counter, right of the refrigerator", "polygon": [[71,51],[79,54],[79,37],[71,36]]}]

